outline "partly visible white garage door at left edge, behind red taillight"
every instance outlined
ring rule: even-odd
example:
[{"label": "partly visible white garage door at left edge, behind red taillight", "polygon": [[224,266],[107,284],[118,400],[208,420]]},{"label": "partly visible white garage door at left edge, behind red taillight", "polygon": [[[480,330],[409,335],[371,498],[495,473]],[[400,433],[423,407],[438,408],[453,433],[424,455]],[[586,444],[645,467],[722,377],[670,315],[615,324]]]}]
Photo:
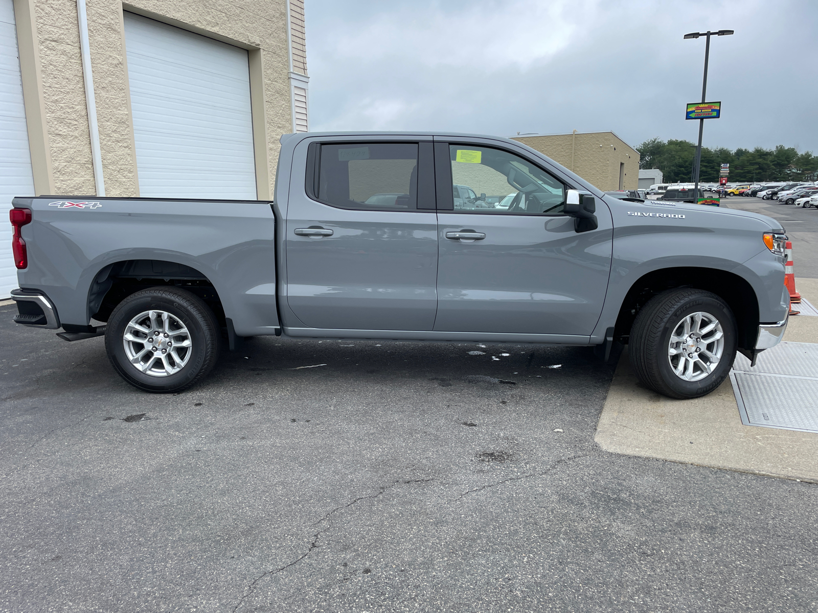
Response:
[{"label": "partly visible white garage door at left edge, behind red taillight", "polygon": [[0,299],[18,287],[11,257],[8,211],[15,196],[34,195],[29,132],[25,128],[23,85],[11,0],[0,0]]}]

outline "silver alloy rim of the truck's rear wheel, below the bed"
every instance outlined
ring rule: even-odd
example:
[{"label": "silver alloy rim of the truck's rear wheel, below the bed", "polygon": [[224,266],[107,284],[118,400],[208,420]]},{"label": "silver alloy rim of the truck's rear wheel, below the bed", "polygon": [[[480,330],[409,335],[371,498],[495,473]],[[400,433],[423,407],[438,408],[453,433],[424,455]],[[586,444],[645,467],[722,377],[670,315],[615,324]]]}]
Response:
[{"label": "silver alloy rim of the truck's rear wheel, below the bed", "polygon": [[133,317],[123,333],[125,356],[142,374],[168,377],[191,359],[193,342],[182,320],[168,311],[144,311]]}]

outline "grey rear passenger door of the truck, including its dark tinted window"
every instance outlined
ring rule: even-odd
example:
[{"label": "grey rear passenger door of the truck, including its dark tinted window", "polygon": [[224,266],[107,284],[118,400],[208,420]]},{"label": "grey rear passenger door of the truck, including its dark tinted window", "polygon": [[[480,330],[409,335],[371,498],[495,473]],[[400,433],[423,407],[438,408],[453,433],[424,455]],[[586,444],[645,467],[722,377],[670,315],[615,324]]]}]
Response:
[{"label": "grey rear passenger door of the truck, including its dark tinted window", "polygon": [[285,229],[288,333],[433,329],[432,146],[429,136],[298,145]]}]

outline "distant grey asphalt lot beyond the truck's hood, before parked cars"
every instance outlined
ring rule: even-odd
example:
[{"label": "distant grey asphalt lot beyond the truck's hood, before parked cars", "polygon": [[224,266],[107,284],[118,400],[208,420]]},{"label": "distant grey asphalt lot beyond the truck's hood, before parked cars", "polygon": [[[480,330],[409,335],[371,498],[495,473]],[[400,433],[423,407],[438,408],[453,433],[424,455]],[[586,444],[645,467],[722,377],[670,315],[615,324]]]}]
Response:
[{"label": "distant grey asphalt lot beyond the truck's hood, before parked cars", "polygon": [[795,275],[818,279],[818,208],[795,208],[792,204],[778,204],[778,200],[744,196],[722,198],[721,206],[762,213],[779,220],[793,241]]}]

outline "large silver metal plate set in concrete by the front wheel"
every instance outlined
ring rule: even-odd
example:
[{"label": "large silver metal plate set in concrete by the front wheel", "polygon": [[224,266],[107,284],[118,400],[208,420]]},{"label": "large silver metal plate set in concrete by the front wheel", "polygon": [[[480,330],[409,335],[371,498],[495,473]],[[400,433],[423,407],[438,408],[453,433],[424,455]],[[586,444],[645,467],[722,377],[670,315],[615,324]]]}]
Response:
[{"label": "large silver metal plate set in concrete by the front wheel", "polygon": [[818,344],[781,342],[753,368],[739,354],[730,382],[744,425],[818,432]]}]

